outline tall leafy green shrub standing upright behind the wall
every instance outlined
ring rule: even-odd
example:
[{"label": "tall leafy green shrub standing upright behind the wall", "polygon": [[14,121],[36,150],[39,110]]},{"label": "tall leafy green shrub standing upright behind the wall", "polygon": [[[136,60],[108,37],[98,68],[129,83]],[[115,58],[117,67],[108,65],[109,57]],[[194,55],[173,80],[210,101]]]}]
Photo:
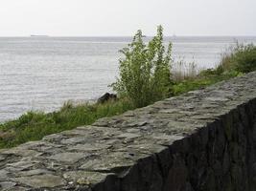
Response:
[{"label": "tall leafy green shrub standing upright behind the wall", "polygon": [[128,97],[135,107],[143,107],[171,94],[172,43],[166,52],[161,26],[148,45],[138,31],[120,52],[125,55],[119,61],[120,77],[111,85],[118,96]]}]

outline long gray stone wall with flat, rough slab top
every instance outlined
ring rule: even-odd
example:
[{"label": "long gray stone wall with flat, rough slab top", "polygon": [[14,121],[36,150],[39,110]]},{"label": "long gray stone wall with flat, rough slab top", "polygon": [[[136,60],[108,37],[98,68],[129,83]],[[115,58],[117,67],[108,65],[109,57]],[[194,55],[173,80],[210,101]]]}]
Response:
[{"label": "long gray stone wall with flat, rough slab top", "polygon": [[0,151],[1,190],[256,190],[256,73]]}]

